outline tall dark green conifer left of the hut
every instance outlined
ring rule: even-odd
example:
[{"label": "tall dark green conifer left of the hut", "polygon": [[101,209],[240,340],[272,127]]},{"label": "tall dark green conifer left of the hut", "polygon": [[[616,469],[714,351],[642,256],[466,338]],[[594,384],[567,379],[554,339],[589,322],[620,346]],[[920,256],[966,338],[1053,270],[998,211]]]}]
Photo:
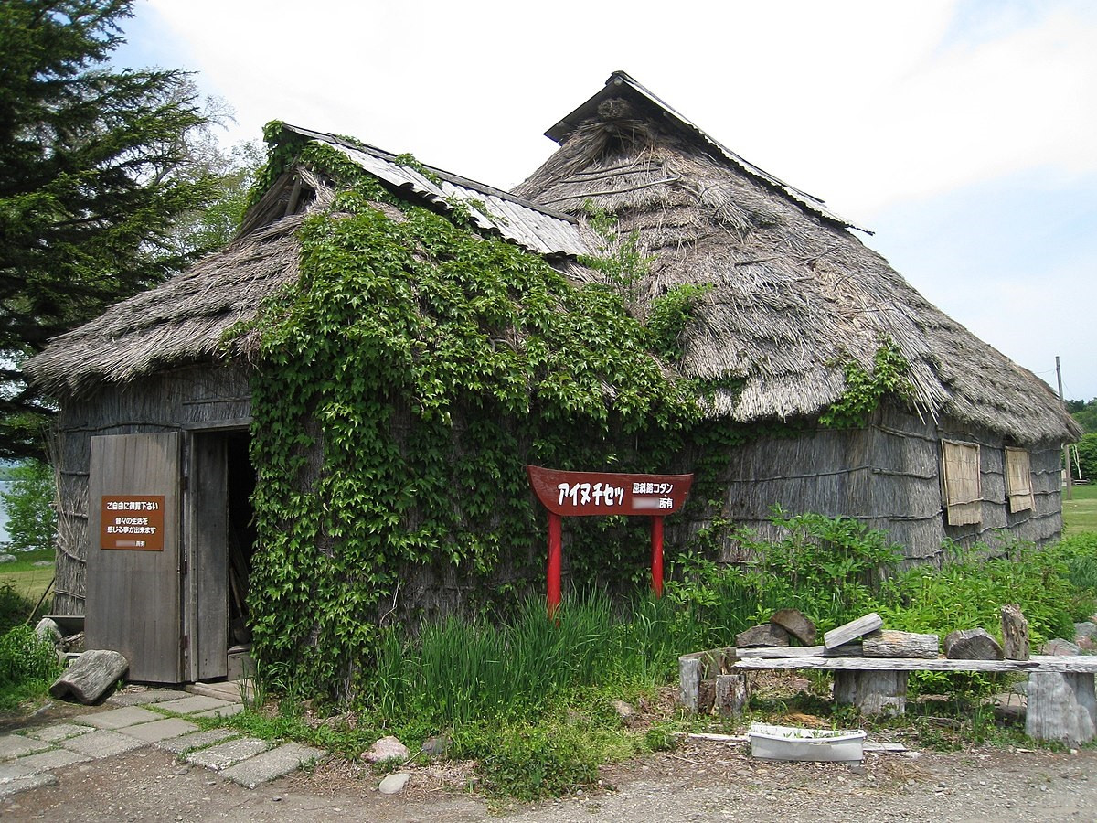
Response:
[{"label": "tall dark green conifer left of the hut", "polygon": [[19,363],[207,249],[177,219],[215,200],[190,77],[117,70],[129,0],[0,0],[0,458],[42,453],[50,409]]}]

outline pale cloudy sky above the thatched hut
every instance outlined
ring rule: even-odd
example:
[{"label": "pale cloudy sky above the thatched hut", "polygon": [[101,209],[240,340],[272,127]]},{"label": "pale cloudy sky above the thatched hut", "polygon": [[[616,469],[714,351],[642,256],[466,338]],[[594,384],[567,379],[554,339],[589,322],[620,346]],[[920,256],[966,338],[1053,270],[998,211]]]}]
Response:
[{"label": "pale cloudy sky above the thatched hut", "polygon": [[116,63],[511,188],[624,69],[875,232],[929,301],[1097,397],[1097,4],[1086,0],[138,0]]}]

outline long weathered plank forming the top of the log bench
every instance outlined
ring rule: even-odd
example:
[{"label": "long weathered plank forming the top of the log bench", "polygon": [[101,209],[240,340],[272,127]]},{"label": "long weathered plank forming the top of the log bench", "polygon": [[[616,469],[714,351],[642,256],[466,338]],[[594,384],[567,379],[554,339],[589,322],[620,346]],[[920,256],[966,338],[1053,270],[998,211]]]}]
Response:
[{"label": "long weathered plank forming the top of the log bench", "polygon": [[1097,655],[1032,655],[1027,661],[951,661],[947,657],[749,657],[735,670],[795,668],[848,672],[1073,672],[1097,674]]}]

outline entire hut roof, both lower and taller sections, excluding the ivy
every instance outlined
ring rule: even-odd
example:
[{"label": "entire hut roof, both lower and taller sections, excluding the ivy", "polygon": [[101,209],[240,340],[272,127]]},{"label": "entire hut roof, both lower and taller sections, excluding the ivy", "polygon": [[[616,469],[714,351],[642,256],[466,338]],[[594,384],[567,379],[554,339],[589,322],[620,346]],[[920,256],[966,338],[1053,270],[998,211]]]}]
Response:
[{"label": "entire hut roof, both lower and taller sections, excluding the ivy", "polygon": [[[1042,381],[934,307],[822,201],[750,165],[623,72],[552,129],[563,143],[514,193],[426,168],[331,135],[286,126],[341,151],[402,196],[463,204],[480,230],[544,255],[578,279],[597,250],[586,204],[619,215],[655,257],[646,300],[706,283],[683,336],[687,374],[735,379],[713,414],[736,420],[813,417],[841,396],[842,364],[871,369],[881,339],[909,361],[914,399],[1018,443],[1079,436]],[[64,399],[104,382],[246,356],[251,338],[223,342],[234,324],[297,277],[296,229],[332,192],[292,167],[252,207],[241,236],[162,285],[56,338],[27,375]],[[484,208],[480,208],[484,204]]]}]

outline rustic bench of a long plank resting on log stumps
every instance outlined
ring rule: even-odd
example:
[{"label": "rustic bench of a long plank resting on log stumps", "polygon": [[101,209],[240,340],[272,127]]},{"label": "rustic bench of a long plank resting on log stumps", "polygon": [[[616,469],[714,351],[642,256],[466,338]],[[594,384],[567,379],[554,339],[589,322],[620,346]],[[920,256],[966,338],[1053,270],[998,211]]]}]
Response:
[{"label": "rustic bench of a long plank resting on log stumps", "polygon": [[[856,649],[714,649],[679,658],[680,699],[691,711],[710,706],[721,713],[742,710],[746,674],[767,669],[835,673],[834,697],[864,714],[902,714],[911,672],[979,672],[1028,675],[1025,731],[1034,740],[1070,745],[1097,736],[1094,675],[1097,656],[1033,655],[1027,661],[965,661],[947,657],[861,657]],[[711,684],[711,686],[709,685]],[[710,694],[711,689],[711,694]]]}]

